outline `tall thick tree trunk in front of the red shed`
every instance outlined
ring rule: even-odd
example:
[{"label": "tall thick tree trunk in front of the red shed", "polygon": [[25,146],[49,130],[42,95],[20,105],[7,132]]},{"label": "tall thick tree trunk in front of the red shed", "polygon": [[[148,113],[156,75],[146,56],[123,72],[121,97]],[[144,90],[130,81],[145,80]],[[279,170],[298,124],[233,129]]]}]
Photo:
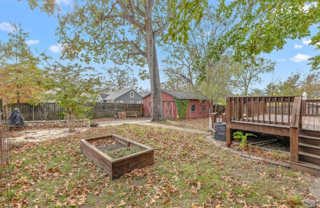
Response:
[{"label": "tall thick tree trunk in front of the red shed", "polygon": [[156,47],[154,33],[151,25],[153,1],[149,0],[145,10],[145,43],[146,58],[148,62],[151,99],[152,99],[152,118],[151,121],[165,120],[162,109],[161,85],[159,77],[158,60],[156,55]]}]

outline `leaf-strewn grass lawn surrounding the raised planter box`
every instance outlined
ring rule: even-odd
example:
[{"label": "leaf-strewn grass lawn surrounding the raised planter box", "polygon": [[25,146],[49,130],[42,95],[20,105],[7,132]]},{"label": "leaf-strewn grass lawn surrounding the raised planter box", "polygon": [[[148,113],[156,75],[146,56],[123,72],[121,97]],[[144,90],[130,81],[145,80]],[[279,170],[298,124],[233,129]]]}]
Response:
[{"label": "leaf-strewn grass lawn surrounding the raised planter box", "polygon": [[[80,139],[106,134],[153,147],[154,165],[111,181],[79,148]],[[312,175],[244,159],[201,134],[173,129],[96,127],[26,142],[11,154],[13,207],[300,207],[305,198],[316,200],[308,191]]]}]

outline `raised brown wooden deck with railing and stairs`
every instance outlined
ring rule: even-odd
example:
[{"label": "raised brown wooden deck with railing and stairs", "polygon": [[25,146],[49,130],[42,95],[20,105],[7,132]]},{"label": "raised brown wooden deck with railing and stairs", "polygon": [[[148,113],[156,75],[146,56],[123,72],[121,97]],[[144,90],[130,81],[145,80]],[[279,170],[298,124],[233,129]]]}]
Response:
[{"label": "raised brown wooden deck with railing and stairs", "polygon": [[225,122],[225,141],[236,130],[288,136],[292,167],[320,175],[320,100],[301,96],[227,97],[225,109],[210,115]]}]

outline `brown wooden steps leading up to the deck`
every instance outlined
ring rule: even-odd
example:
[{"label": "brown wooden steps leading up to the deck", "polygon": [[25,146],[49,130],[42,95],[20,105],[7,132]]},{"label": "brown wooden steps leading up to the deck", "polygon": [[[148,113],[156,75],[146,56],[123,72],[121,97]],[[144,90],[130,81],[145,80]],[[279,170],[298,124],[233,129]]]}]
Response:
[{"label": "brown wooden steps leading up to the deck", "polygon": [[319,132],[300,130],[298,151],[298,163],[291,161],[290,166],[320,175]]}]

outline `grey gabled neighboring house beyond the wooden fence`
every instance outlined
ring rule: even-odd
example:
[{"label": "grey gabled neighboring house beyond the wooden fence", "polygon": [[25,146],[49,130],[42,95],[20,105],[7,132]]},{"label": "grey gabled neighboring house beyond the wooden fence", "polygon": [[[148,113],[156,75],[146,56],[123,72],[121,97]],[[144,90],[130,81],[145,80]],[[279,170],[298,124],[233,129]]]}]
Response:
[{"label": "grey gabled neighboring house beyond the wooden fence", "polygon": [[142,95],[135,89],[110,90],[105,94],[99,94],[98,102],[102,103],[134,103],[142,104]]}]

